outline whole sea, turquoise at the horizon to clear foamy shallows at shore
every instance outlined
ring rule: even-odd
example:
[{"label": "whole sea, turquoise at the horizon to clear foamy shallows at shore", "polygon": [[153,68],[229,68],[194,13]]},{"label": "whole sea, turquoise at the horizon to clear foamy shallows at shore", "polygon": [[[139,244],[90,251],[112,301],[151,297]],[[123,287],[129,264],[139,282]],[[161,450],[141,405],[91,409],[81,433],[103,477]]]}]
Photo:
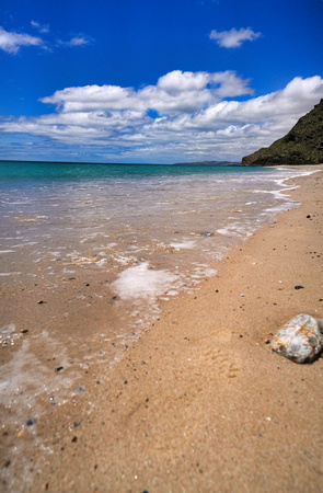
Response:
[{"label": "whole sea, turquoise at the horizon to clear foamy shallows at shore", "polygon": [[[198,290],[230,248],[298,206],[288,190],[304,174],[284,167],[0,162],[3,426],[19,433],[27,420],[36,423],[45,401],[64,405],[85,393],[76,386],[91,365],[102,378],[100,365],[103,372],[117,364],[161,303]],[[69,283],[76,296],[67,301]],[[33,299],[33,307],[10,309],[18,293]],[[89,311],[86,330],[77,326],[93,306],[104,313],[100,323]],[[16,448],[10,460],[22,454]]]}]

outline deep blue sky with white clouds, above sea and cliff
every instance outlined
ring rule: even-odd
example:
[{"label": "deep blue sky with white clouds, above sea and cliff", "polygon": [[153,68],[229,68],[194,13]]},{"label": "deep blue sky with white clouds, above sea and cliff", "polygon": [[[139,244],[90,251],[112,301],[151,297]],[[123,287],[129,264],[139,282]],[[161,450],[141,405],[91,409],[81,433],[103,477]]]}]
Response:
[{"label": "deep blue sky with white clouds, above sea and cliff", "polygon": [[1,0],[0,159],[240,161],[323,98],[323,0]]}]

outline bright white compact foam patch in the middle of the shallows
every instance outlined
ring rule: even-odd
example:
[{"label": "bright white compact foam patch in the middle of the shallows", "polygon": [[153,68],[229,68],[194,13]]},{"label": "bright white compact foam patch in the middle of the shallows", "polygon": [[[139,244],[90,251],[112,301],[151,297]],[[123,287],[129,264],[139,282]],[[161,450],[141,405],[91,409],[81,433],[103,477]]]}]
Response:
[{"label": "bright white compact foam patch in the middle of the shallows", "polygon": [[178,276],[168,271],[154,271],[149,268],[149,262],[142,262],[122,272],[112,287],[124,300],[153,301],[174,288]]}]

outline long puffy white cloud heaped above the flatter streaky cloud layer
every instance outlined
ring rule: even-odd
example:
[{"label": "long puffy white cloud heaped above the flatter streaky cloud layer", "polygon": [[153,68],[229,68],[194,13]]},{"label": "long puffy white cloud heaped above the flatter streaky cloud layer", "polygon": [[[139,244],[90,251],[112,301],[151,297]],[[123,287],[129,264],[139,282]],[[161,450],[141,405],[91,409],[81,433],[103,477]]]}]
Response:
[{"label": "long puffy white cloud heaped above the flatter streaky cloud layer", "polygon": [[251,94],[247,83],[249,80],[229,70],[215,73],[174,70],[161,77],[155,85],[138,91],[118,85],[85,85],[56,91],[41,101],[55,104],[62,113],[154,110],[160,116],[175,116],[195,113],[222,98]]}]

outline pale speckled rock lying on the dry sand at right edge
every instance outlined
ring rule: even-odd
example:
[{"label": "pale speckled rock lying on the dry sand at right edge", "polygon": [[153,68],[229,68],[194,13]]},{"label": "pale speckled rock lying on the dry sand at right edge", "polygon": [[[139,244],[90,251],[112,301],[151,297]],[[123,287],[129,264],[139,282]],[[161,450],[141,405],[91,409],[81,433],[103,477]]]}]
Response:
[{"label": "pale speckled rock lying on the dry sand at right edge", "polygon": [[311,363],[322,351],[318,321],[309,314],[299,314],[284,325],[272,341],[272,348],[295,363]]}]

